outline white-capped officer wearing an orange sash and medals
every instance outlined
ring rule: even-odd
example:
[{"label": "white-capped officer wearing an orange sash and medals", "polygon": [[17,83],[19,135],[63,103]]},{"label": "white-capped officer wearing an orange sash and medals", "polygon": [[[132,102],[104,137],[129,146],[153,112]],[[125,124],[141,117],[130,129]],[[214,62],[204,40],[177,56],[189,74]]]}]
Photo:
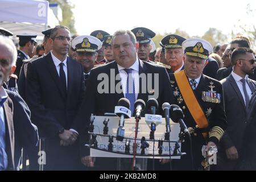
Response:
[{"label": "white-capped officer wearing an orange sash and medals", "polygon": [[[203,75],[205,61],[212,46],[203,39],[187,39],[182,43],[184,70],[170,75],[175,102],[184,112],[184,122],[192,139],[192,155],[189,138],[181,144],[187,155],[172,162],[177,170],[197,170],[204,164],[203,145],[216,147],[226,129],[223,89],[219,81]],[[193,157],[193,167],[192,160]]]}]

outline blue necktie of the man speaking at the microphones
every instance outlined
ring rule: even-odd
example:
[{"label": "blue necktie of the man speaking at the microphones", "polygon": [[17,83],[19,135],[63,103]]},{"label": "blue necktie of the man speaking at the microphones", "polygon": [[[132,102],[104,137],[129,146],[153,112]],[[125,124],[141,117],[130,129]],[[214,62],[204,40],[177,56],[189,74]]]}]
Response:
[{"label": "blue necktie of the man speaking at the microphones", "polygon": [[133,114],[134,111],[134,103],[135,103],[135,86],[132,76],[133,69],[123,69],[127,73],[127,80],[126,80],[126,93],[125,98],[130,101],[130,110],[131,114]]}]

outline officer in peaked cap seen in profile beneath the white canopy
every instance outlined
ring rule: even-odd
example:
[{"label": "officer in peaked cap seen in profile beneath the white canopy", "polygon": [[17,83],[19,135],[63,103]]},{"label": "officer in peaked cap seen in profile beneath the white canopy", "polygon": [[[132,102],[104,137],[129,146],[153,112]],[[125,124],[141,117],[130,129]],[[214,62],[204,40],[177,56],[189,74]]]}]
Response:
[{"label": "officer in peaked cap seen in profile beneath the white canopy", "polygon": [[30,59],[30,56],[33,53],[33,50],[36,46],[36,36],[35,34],[21,34],[16,35],[19,38],[19,50],[18,57],[16,61],[16,70],[14,74],[19,77],[20,68],[22,67],[24,59]]}]

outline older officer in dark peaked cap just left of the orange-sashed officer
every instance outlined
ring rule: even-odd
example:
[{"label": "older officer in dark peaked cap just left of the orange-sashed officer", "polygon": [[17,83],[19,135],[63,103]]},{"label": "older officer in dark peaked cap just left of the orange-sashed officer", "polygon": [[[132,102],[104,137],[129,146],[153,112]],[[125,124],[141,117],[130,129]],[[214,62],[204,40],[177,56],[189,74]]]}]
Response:
[{"label": "older officer in dark peaked cap just left of the orange-sashed officer", "polygon": [[167,69],[168,73],[176,73],[184,69],[183,50],[181,47],[184,40],[186,39],[182,36],[171,34],[165,36],[160,42],[160,45],[164,47],[166,63],[171,67],[171,69]]}]

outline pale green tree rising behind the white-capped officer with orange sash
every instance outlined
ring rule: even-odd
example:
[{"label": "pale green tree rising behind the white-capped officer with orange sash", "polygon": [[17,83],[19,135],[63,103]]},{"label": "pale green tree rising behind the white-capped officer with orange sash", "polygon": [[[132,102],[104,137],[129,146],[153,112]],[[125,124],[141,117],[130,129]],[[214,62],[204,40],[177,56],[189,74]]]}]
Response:
[{"label": "pale green tree rising behind the white-capped officer with orange sash", "polygon": [[222,44],[228,42],[228,36],[222,34],[222,32],[216,28],[209,28],[209,30],[206,31],[202,36],[202,39],[207,40],[210,44],[212,44],[212,47],[214,47],[217,43]]}]

